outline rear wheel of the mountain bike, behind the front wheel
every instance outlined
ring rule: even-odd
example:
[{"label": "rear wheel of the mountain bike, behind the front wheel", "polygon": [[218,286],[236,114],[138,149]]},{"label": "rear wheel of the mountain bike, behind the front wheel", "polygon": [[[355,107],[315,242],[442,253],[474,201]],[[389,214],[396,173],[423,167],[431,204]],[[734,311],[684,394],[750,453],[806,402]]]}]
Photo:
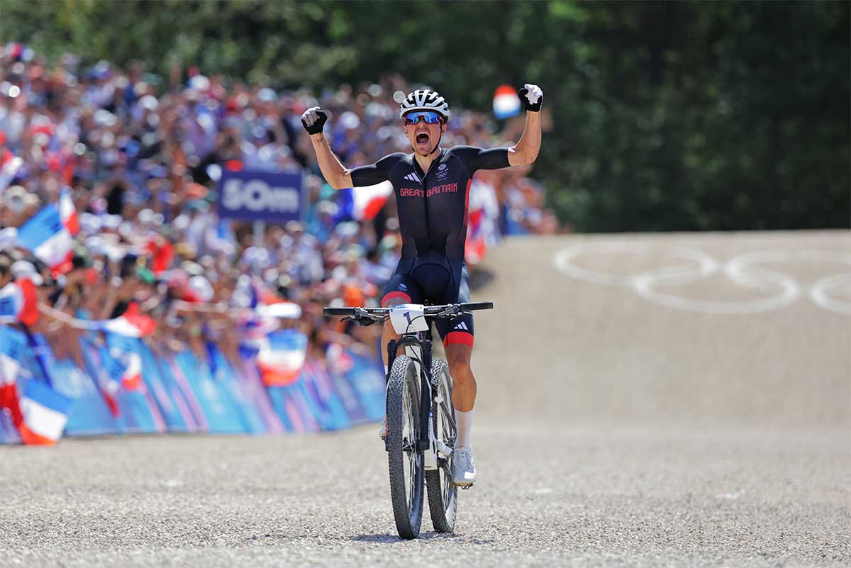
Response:
[{"label": "rear wheel of the mountain bike, behind the front wheel", "polygon": [[[455,415],[452,406],[452,377],[446,361],[435,358],[431,361],[431,427],[438,440],[453,447],[457,437]],[[458,487],[452,482],[452,457],[437,457],[437,469],[426,471],[428,487],[428,510],[431,524],[437,532],[453,532],[458,513]]]}]

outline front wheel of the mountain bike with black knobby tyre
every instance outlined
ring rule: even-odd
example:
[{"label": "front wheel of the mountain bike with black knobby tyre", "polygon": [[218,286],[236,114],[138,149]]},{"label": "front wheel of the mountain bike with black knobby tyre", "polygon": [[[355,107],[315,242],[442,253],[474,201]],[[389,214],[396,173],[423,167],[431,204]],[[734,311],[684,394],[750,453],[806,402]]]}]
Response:
[{"label": "front wheel of the mountain bike with black knobby tyre", "polygon": [[387,462],[390,495],[399,536],[420,535],[423,515],[423,455],[419,435],[420,382],[414,361],[397,355],[387,383]]}]

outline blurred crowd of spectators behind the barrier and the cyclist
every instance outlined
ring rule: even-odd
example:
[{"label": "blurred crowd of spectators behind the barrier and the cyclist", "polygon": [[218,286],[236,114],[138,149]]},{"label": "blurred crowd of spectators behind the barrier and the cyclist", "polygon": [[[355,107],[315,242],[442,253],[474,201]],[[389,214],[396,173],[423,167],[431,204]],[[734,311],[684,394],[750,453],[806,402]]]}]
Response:
[{"label": "blurred crowd of spectators behind the barrier and the cyclist", "polygon": [[[322,317],[322,307],[377,303],[401,248],[395,203],[391,197],[368,222],[347,218],[323,182],[300,115],[322,105],[341,161],[372,163],[409,151],[393,100],[407,89],[401,77],[386,77],[317,97],[179,66],[160,77],[136,62],[83,65],[71,54],[49,65],[11,43],[0,62],[0,286],[37,273],[39,301],[52,310],[36,331],[58,356],[75,359],[73,321],[116,318],[131,307],[156,321],[163,344],[199,353],[213,340],[237,356],[252,330],[279,325],[301,327],[316,355],[329,341],[368,343],[372,328],[341,327]],[[496,126],[454,108],[442,145],[511,145],[523,122],[501,133]],[[305,172],[306,219],[260,227],[219,219],[215,189],[224,169]],[[557,230],[527,174],[477,174],[492,240]],[[71,270],[56,274],[16,243],[14,228],[67,188],[80,230]],[[298,304],[300,315],[258,321],[257,305],[283,303]]]}]

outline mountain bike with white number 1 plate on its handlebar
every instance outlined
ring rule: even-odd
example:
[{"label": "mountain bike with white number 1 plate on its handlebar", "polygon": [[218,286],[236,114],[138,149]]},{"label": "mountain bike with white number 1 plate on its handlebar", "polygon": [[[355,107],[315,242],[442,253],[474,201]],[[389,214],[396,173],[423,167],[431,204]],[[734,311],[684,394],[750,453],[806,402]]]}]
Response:
[{"label": "mountain bike with white number 1 plate on its handlebar", "polygon": [[325,315],[343,315],[341,321],[364,326],[383,324],[389,317],[402,336],[387,345],[385,438],[393,517],[400,537],[420,535],[424,479],[435,531],[453,532],[458,511],[458,487],[452,482],[452,448],[457,436],[452,377],[446,361],[431,357],[431,322],[493,307],[492,302],[470,302],[324,309]]}]

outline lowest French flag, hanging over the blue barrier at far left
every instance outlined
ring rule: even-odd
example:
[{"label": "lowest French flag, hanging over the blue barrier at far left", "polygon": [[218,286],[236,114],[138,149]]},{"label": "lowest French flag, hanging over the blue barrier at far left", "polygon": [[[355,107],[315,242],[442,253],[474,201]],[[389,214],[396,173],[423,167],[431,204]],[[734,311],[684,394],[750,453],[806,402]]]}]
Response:
[{"label": "lowest French flag, hanging over the blue barrier at far left", "polygon": [[70,407],[70,399],[41,381],[30,380],[20,397],[20,439],[31,446],[53,446],[62,437]]}]

